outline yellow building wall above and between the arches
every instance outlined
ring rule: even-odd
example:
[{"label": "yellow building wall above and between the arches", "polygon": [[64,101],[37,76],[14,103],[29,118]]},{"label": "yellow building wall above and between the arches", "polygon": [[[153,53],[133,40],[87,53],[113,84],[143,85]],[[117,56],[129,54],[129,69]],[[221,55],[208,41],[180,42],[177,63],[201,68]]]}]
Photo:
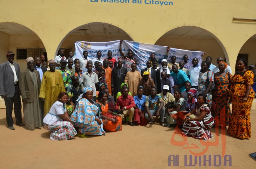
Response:
[{"label": "yellow building wall above and between the arches", "polygon": [[142,4],[128,1],[1,1],[0,23],[14,22],[30,28],[42,40],[48,58],[54,58],[70,31],[87,23],[109,23],[123,29],[134,41],[150,44],[174,28],[197,26],[215,36],[233,70],[242,45],[256,33],[255,21],[232,19],[256,18],[256,1],[176,0],[173,5],[162,6],[145,4],[144,0]]}]

